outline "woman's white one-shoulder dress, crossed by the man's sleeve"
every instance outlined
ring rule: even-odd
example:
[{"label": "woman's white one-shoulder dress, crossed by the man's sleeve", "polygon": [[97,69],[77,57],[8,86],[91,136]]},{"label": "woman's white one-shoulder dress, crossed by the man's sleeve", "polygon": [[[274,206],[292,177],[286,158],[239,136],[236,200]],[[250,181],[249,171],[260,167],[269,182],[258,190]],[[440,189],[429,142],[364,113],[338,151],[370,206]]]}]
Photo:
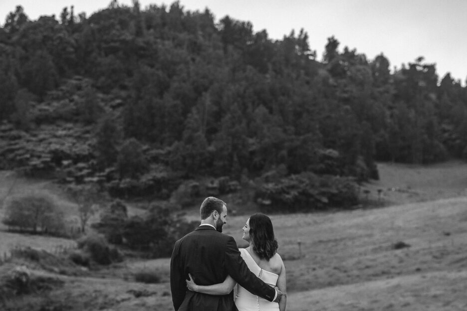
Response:
[{"label": "woman's white one-shoulder dress, crossed by the man's sleeve", "polygon": [[[241,257],[251,272],[264,283],[276,286],[277,279],[279,278],[277,274],[261,269],[246,249],[240,248],[239,250]],[[237,285],[235,306],[238,308],[238,311],[279,311],[278,303],[269,302],[259,296],[253,295],[240,285]]]}]

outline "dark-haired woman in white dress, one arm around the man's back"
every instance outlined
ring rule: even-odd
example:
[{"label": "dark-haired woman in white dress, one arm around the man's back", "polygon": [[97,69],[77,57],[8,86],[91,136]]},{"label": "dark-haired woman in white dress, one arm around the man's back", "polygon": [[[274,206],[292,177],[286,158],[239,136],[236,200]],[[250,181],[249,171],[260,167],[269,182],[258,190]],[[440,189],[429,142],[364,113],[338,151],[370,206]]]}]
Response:
[{"label": "dark-haired woman in white dress, one arm around the man's back", "polygon": [[[277,286],[285,294],[285,267],[282,258],[277,254],[278,245],[271,219],[263,214],[252,215],[243,226],[242,238],[249,243],[249,247],[239,249],[248,268],[264,283]],[[286,295],[282,296],[278,303],[269,302],[246,291],[230,276],[227,276],[223,283],[200,286],[190,275],[187,287],[191,291],[209,295],[227,295],[235,288],[235,306],[238,311],[285,311]]]}]

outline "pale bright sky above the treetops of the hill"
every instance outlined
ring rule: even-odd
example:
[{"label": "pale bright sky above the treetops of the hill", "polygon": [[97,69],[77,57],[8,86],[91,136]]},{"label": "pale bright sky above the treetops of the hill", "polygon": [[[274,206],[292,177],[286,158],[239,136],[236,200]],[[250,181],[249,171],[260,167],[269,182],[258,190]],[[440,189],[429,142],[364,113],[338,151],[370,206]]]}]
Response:
[{"label": "pale bright sky above the treetops of the hill", "polygon": [[[170,6],[174,1],[140,0]],[[40,15],[60,15],[63,7],[87,16],[106,8],[110,0],[0,0],[0,23],[16,5],[31,20]],[[118,0],[132,6],[132,0]],[[322,59],[327,38],[334,36],[339,50],[345,46],[363,53],[369,60],[383,53],[391,69],[414,62],[419,56],[436,63],[439,79],[447,72],[466,85],[467,0],[180,0],[185,10],[204,10],[216,21],[225,15],[250,21],[255,32],[266,29],[269,38],[282,39],[292,29],[303,28],[312,50]]]}]

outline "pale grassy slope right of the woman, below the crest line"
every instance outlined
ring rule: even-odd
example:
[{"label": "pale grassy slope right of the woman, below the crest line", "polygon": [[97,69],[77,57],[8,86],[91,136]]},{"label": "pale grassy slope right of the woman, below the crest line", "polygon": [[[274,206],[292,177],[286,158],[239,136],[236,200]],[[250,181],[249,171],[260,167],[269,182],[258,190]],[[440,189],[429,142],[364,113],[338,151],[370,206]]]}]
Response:
[{"label": "pale grassy slope right of the woman, below the crest line", "polygon": [[[295,235],[308,238],[305,258],[286,262],[289,310],[467,305],[460,294],[467,290],[466,205],[466,198],[443,199],[296,219]],[[398,241],[411,247],[394,250]]]}]

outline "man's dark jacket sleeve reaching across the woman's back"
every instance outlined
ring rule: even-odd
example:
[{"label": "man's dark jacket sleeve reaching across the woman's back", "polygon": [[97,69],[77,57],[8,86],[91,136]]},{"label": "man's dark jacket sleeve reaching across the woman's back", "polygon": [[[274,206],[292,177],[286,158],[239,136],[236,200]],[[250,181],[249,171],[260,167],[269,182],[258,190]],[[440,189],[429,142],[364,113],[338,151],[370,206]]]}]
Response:
[{"label": "man's dark jacket sleeve reaching across the woman's back", "polygon": [[229,237],[227,242],[225,264],[229,275],[248,292],[268,301],[274,299],[275,290],[248,269],[233,237]]}]

